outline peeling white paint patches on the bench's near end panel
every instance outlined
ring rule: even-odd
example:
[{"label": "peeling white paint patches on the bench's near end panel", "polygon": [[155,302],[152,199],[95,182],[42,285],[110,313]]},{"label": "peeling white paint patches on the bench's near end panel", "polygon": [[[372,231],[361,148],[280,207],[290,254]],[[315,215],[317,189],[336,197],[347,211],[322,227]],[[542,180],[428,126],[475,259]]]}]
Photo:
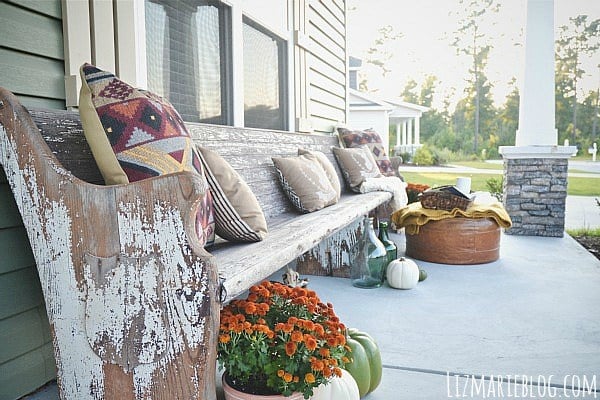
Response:
[{"label": "peeling white paint patches on the bench's near end panel", "polygon": [[[208,272],[182,244],[186,233],[181,212],[168,204],[147,207],[140,199],[121,202],[114,233],[121,254],[100,259],[88,251],[86,260],[74,260],[72,246],[86,252],[81,248],[86,243],[81,232],[73,232],[73,221],[85,216],[70,215],[62,197],[51,200],[34,156],[23,149],[17,156],[15,146],[0,125],[0,163],[38,267],[55,336],[61,398],[104,399],[103,365],[112,363],[133,372],[136,398],[151,399],[152,393],[165,389],[155,385],[170,363],[182,351],[204,346],[206,318],[211,318],[209,296],[214,294],[208,292]],[[61,194],[73,191],[73,176],[50,164],[49,173],[58,173],[55,184]],[[82,282],[77,281],[77,266],[82,267]],[[213,349],[206,351],[214,354]],[[196,371],[191,385],[201,396],[197,377],[206,366],[185,367]]]}]

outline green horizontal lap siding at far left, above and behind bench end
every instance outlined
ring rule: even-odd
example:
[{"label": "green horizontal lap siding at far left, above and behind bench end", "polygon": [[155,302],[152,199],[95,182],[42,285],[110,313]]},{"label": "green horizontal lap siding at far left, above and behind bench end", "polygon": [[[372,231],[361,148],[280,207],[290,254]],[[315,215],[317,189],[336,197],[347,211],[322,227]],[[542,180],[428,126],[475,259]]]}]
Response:
[{"label": "green horizontal lap siding at far left, above and behind bench end", "polygon": [[[0,86],[26,107],[65,108],[60,0],[0,2]],[[29,240],[0,168],[0,399],[56,376],[50,327]]]}]

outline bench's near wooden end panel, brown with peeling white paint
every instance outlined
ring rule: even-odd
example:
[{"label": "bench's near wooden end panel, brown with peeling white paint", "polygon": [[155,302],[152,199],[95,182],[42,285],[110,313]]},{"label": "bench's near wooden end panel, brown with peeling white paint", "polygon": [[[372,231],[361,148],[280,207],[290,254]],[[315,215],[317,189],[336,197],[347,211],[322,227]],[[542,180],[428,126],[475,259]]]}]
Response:
[{"label": "bench's near wooden end panel, brown with peeling white paint", "polygon": [[0,163],[37,263],[61,398],[214,399],[218,279],[192,218],[205,182],[83,182],[14,95],[0,89],[0,101]]}]

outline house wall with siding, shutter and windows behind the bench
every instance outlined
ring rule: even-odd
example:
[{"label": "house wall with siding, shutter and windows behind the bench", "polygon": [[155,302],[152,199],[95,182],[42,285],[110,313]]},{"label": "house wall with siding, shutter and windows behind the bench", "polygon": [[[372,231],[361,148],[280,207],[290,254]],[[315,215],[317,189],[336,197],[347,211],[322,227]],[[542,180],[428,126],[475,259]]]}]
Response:
[{"label": "house wall with siding, shutter and windows behind the bench", "polygon": [[[5,0],[0,86],[76,107],[91,62],[167,97],[187,121],[330,134],[347,122],[344,0]],[[55,376],[29,242],[0,169],[0,398]]]}]

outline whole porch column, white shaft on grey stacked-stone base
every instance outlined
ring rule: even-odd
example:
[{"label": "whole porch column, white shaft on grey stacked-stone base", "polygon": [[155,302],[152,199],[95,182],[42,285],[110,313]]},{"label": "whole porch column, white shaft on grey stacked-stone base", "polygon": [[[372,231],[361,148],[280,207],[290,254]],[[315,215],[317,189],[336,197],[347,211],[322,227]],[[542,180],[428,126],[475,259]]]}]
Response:
[{"label": "whole porch column, white shaft on grey stacked-stone base", "polygon": [[525,74],[516,146],[501,146],[503,202],[513,221],[506,233],[562,237],[568,159],[554,125],[554,0],[528,0]]}]

